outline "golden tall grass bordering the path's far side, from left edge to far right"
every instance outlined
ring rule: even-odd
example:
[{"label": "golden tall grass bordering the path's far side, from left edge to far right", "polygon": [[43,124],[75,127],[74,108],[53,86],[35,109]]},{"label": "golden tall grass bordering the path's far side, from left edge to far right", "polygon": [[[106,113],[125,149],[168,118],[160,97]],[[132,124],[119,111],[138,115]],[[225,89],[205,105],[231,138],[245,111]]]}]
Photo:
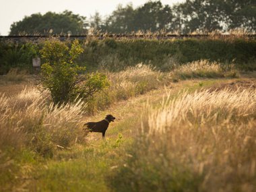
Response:
[{"label": "golden tall grass bordering the path's far side, from left edge to far right", "polygon": [[[220,71],[220,65],[218,63],[210,63],[210,61],[197,61],[188,65],[181,65],[174,69],[173,73],[178,73],[177,71],[191,73],[191,71],[200,72],[204,70],[216,71],[217,73]],[[0,104],[3,115],[0,123],[1,131],[5,132],[2,135],[9,134],[9,137],[13,137],[10,141],[20,141],[23,139],[22,137],[15,139],[19,134],[27,137],[27,134],[40,130],[40,133],[46,134],[42,135],[42,137],[48,139],[46,143],[50,146],[69,146],[71,141],[77,141],[74,135],[79,132],[77,127],[82,127],[84,113],[93,114],[97,110],[107,108],[118,100],[126,100],[167,85],[172,81],[173,73],[162,73],[151,65],[143,65],[142,63],[137,64],[135,67],[127,67],[127,69],[118,73],[108,72],[110,88],[97,94],[94,98],[86,100],[85,102],[88,102],[87,106],[82,100],[76,100],[74,104],[67,104],[57,108],[57,106],[49,104],[48,101],[46,102],[45,96],[36,88],[25,87],[22,92],[11,98],[1,96]],[[4,128],[8,126],[10,128]],[[7,138],[3,136],[2,144],[5,143],[5,140],[7,142]],[[32,141],[26,141],[23,144],[26,145],[29,142],[31,143]],[[36,143],[38,141],[33,140],[33,142]]]}]

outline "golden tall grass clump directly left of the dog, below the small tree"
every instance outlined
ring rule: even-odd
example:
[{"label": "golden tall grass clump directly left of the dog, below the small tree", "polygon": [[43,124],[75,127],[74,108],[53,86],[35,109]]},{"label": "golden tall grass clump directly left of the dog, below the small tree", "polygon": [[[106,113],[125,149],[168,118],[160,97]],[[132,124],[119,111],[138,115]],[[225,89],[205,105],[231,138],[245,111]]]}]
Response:
[{"label": "golden tall grass clump directly left of the dog, below the small tree", "polygon": [[12,98],[2,95],[0,105],[2,151],[8,147],[26,147],[42,155],[51,155],[57,145],[67,147],[82,139],[82,100],[57,107],[46,104],[36,88],[25,88]]}]

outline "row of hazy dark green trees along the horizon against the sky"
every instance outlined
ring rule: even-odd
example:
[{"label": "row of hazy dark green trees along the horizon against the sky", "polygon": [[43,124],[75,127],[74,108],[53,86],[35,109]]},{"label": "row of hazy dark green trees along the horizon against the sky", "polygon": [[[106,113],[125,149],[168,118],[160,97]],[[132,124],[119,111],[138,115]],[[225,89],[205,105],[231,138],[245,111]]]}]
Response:
[{"label": "row of hazy dark green trees along the horizon against the sky", "polygon": [[156,32],[212,32],[243,28],[256,31],[256,0],[187,0],[173,6],[161,1],[148,1],[133,7],[131,3],[103,17],[96,12],[90,18],[63,11],[35,13],[11,24],[10,35],[85,34],[90,28],[101,32],[131,33],[141,30]]}]

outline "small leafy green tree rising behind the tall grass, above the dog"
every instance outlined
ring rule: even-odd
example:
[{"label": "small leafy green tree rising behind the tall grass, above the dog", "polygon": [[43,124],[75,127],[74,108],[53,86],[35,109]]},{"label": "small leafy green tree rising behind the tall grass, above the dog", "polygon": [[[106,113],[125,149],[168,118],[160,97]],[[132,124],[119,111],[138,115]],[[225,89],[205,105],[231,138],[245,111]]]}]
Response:
[{"label": "small leafy green tree rising behind the tall grass, above the dog", "polygon": [[106,75],[79,75],[86,67],[79,67],[74,61],[83,51],[78,40],[73,41],[70,49],[64,42],[49,40],[40,50],[46,61],[42,65],[40,82],[49,90],[55,104],[71,102],[77,96],[93,96],[109,85]]}]

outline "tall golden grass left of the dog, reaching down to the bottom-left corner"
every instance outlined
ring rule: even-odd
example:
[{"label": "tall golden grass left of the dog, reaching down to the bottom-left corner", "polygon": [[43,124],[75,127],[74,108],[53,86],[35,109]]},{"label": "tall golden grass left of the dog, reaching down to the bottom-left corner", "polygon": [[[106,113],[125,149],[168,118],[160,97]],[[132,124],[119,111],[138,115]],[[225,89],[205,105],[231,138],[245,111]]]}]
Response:
[{"label": "tall golden grass left of the dog, reaching down to the bottom-left corner", "polygon": [[[0,106],[0,186],[3,190],[14,184],[18,174],[26,177],[24,167],[32,167],[35,157],[53,157],[58,148],[63,150],[85,141],[82,100],[57,107],[45,100],[36,88],[24,88],[15,96],[1,94]],[[26,172],[30,170],[26,168]]]}]

